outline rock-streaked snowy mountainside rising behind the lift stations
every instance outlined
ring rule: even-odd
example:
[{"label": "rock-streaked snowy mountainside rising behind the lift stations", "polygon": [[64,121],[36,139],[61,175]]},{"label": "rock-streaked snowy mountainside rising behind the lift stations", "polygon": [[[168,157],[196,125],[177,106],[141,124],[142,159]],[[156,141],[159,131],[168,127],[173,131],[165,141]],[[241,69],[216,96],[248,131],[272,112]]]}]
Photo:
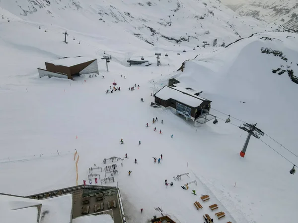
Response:
[{"label": "rock-streaked snowy mountainside rising behind the lift stations", "polygon": [[[203,41],[218,39],[219,44],[229,43],[251,33],[278,28],[238,18],[218,0],[1,0],[0,7],[5,18],[12,13],[13,18],[16,15],[44,28],[63,27],[71,36],[76,32],[98,33],[94,38],[103,44],[107,43],[102,35],[105,33],[109,38],[117,37],[119,42],[126,39],[132,43],[138,38],[150,45],[183,42],[194,47]],[[119,35],[123,32],[131,36]]]}]

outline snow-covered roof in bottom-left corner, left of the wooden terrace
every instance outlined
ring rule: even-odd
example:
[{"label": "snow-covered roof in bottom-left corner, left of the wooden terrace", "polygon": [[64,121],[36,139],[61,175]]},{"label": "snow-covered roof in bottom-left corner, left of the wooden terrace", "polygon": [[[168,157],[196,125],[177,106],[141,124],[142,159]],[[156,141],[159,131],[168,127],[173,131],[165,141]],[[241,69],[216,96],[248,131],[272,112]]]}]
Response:
[{"label": "snow-covered roof in bottom-left corner, left of the wooden terrace", "polygon": [[[3,223],[37,223],[38,218],[39,222],[42,219],[42,223],[69,223],[72,206],[72,194],[45,200],[0,194],[0,218]],[[40,207],[41,210],[38,210]]]}]

